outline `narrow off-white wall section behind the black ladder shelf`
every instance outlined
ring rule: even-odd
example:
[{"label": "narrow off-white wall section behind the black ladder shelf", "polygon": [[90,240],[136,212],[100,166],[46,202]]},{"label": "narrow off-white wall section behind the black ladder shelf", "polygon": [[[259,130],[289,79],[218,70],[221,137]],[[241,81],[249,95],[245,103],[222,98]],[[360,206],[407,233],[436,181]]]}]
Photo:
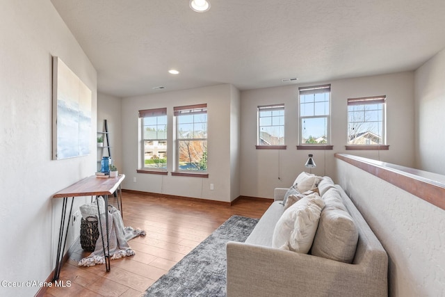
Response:
[{"label": "narrow off-white wall section behind the black ladder shelf", "polygon": [[[113,164],[118,167],[120,173],[123,172],[122,163],[122,99],[104,93],[97,93],[97,131],[105,131],[104,120],[107,120],[108,139],[111,159]],[[97,136],[100,136],[98,134]],[[104,143],[105,137],[104,137]],[[106,148],[97,148],[97,159],[102,156],[108,156]]]}]

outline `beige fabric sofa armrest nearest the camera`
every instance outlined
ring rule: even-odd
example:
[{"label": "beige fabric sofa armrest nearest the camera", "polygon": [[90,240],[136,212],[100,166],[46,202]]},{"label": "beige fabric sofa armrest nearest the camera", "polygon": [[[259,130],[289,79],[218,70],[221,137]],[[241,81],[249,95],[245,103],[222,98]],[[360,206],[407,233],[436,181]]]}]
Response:
[{"label": "beige fabric sofa armrest nearest the camera", "polygon": [[227,297],[387,296],[363,265],[288,250],[227,243]]}]

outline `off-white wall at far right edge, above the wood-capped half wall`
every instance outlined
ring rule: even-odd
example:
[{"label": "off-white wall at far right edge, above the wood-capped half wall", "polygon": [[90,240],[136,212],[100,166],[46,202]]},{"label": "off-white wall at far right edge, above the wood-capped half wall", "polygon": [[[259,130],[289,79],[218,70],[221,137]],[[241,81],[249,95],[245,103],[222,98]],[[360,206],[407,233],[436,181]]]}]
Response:
[{"label": "off-white wall at far right edge, above the wood-capped half wall", "polygon": [[445,49],[415,72],[416,167],[445,175]]}]

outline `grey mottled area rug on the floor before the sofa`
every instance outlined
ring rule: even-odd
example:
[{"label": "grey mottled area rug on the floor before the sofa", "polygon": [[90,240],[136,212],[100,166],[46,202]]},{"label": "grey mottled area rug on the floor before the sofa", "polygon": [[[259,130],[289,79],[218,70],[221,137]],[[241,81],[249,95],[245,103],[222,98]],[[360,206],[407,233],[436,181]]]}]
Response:
[{"label": "grey mottled area rug on the floor before the sofa", "polygon": [[143,296],[225,296],[227,241],[244,242],[258,219],[232,216],[163,275]]}]

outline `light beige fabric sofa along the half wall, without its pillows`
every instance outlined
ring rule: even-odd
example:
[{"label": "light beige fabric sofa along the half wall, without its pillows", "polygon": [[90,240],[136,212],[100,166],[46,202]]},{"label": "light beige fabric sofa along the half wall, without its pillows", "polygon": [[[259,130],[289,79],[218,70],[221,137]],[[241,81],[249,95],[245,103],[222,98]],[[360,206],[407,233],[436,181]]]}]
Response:
[{"label": "light beige fabric sofa along the half wall, without its pillows", "polygon": [[288,190],[276,188],[275,202],[245,243],[227,243],[227,296],[387,296],[387,253],[343,189],[323,177],[318,186],[323,199],[331,188],[339,191],[358,230],[352,263],[273,248]]}]

